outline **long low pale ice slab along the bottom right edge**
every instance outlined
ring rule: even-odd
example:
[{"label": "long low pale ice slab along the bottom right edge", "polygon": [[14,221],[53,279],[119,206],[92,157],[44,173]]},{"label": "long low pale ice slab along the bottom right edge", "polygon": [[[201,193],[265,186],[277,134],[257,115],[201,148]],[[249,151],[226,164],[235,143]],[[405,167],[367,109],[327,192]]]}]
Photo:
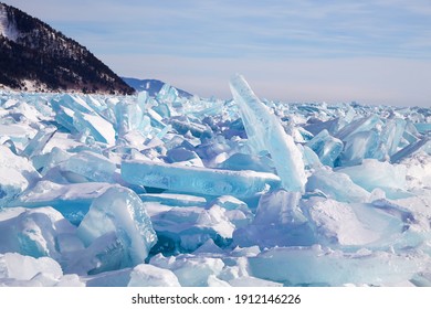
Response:
[{"label": "long low pale ice slab along the bottom right edge", "polygon": [[343,253],[313,246],[272,248],[250,257],[249,264],[252,276],[286,286],[391,286],[427,269],[430,257],[365,249]]}]

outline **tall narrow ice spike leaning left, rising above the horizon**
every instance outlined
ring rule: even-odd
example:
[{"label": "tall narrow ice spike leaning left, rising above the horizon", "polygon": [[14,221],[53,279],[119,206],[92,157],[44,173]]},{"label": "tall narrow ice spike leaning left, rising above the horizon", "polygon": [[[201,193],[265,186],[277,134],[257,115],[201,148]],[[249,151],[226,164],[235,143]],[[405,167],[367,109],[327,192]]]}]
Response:
[{"label": "tall narrow ice spike leaning left, rising above the horizon", "polygon": [[271,153],[284,189],[303,192],[306,182],[304,161],[292,136],[284,131],[280,120],[257,98],[243,76],[232,77],[230,87],[254,150]]}]

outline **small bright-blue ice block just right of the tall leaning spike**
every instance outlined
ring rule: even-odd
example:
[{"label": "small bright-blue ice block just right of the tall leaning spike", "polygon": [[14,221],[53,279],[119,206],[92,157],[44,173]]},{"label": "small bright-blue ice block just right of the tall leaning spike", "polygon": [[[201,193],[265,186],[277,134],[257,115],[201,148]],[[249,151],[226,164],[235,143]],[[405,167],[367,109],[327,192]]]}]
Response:
[{"label": "small bright-blue ice block just right of the tall leaning spike", "polygon": [[317,153],[320,162],[328,167],[334,167],[334,162],[344,147],[343,141],[332,137],[326,129],[322,130],[306,145]]}]

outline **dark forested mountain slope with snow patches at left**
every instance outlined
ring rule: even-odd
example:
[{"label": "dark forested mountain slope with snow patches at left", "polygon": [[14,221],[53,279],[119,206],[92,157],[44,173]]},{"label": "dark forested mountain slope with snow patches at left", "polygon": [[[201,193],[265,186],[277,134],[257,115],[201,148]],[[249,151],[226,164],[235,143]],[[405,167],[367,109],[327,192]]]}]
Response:
[{"label": "dark forested mountain slope with snow patches at left", "polygon": [[134,93],[86,47],[1,2],[0,86],[36,92]]}]

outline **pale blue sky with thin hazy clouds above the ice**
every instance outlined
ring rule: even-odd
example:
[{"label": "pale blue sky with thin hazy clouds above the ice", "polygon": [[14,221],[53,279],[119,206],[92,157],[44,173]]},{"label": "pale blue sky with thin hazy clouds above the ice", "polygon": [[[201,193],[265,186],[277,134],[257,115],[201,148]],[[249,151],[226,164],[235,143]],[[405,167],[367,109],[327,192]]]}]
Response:
[{"label": "pale blue sky with thin hazy clouds above the ice", "polygon": [[231,98],[431,106],[431,0],[1,0],[119,76]]}]

